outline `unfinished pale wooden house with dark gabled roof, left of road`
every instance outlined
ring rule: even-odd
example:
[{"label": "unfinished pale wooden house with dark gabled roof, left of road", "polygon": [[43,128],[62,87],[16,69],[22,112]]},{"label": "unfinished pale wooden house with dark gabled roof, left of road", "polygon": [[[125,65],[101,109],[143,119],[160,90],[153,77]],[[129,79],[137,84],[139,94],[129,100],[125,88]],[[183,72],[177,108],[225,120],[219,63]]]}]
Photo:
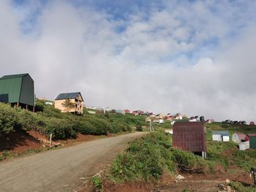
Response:
[{"label": "unfinished pale wooden house with dark gabled roof, left of road", "polygon": [[55,99],[54,107],[61,112],[83,114],[83,97],[80,92],[60,93]]}]

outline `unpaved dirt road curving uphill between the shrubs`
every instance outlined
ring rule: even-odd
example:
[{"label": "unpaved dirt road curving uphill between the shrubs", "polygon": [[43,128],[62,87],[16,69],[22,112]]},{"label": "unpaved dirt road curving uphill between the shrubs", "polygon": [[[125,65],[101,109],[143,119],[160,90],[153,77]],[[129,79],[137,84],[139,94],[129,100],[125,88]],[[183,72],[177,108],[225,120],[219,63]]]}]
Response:
[{"label": "unpaved dirt road curving uphill between the shrubs", "polygon": [[74,191],[143,132],[85,142],[0,163],[0,191]]}]

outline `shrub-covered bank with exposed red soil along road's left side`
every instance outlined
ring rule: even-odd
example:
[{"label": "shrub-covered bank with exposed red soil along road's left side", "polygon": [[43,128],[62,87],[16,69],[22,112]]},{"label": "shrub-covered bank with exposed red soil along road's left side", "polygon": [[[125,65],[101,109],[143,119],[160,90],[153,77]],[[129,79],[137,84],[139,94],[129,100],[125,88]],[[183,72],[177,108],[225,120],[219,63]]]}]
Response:
[{"label": "shrub-covered bank with exposed red soil along road's left side", "polygon": [[[145,124],[145,117],[119,114],[84,115],[61,113],[43,101],[36,103],[37,112],[0,103],[0,156],[10,152],[24,153],[40,150],[42,141],[52,134],[53,141],[68,144],[97,137],[132,131]],[[41,141],[39,141],[40,139]]]}]

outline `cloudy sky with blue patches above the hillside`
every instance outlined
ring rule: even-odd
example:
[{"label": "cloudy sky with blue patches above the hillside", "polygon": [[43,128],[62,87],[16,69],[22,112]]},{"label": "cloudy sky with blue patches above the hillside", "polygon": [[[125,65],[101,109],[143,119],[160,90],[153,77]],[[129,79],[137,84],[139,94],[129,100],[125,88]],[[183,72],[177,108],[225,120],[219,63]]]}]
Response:
[{"label": "cloudy sky with blue patches above the hillside", "polygon": [[256,1],[1,0],[0,76],[86,106],[256,121]]}]

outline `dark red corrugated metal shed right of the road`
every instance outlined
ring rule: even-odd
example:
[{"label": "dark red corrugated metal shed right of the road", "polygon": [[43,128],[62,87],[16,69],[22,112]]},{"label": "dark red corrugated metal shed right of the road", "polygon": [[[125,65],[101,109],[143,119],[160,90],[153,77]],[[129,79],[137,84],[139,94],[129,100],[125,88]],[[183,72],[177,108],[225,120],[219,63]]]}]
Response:
[{"label": "dark red corrugated metal shed right of the road", "polygon": [[206,152],[203,122],[181,122],[173,125],[173,147],[191,152]]}]

